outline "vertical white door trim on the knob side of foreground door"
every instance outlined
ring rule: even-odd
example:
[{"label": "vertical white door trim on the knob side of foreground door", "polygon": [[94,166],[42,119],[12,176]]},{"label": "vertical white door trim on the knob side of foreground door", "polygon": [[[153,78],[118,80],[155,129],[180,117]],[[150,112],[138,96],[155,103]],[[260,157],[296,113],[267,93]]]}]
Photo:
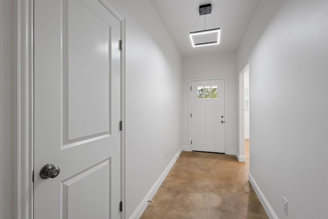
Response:
[{"label": "vertical white door trim on the knob side of foreground door", "polygon": [[15,216],[33,218],[33,1],[17,0]]}]

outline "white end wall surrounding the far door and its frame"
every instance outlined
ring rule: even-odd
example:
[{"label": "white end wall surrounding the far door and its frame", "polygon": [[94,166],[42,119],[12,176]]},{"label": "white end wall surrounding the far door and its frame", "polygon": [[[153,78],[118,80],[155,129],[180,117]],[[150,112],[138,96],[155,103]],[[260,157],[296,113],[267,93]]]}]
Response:
[{"label": "white end wall surrounding the far door and its frame", "polygon": [[[194,48],[197,49],[197,48]],[[237,76],[235,53],[183,57],[182,78],[182,146],[188,147],[188,78],[227,76],[228,112],[226,112],[228,152],[235,154],[237,146]]]}]

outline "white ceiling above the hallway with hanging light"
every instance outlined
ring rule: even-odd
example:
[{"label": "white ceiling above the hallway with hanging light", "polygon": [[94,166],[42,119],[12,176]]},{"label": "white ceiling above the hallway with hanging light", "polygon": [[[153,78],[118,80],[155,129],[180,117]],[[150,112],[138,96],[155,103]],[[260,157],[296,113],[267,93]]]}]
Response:
[{"label": "white ceiling above the hallway with hanging light", "polygon": [[[260,0],[151,0],[182,56],[235,52]],[[212,15],[199,17],[200,5],[212,4]],[[221,28],[220,44],[193,48],[189,32]],[[216,24],[214,24],[214,22]],[[197,24],[197,20],[199,22]]]}]

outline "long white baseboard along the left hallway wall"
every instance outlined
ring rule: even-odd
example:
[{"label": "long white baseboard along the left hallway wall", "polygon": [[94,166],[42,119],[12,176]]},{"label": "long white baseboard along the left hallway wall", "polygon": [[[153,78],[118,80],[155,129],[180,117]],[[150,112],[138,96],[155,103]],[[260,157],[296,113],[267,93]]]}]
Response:
[{"label": "long white baseboard along the left hallway wall", "polygon": [[159,189],[162,182],[165,180],[166,176],[169,174],[171,168],[173,167],[174,163],[176,162],[177,157],[180,156],[181,152],[182,152],[182,147],[175,154],[175,156],[173,157],[173,159],[171,160],[171,162],[169,163],[167,168],[165,168],[165,170],[162,172],[162,174],[160,174],[160,176],[158,177],[155,184],[152,186],[152,188],[149,190],[147,195],[144,197],[144,199],[141,201],[141,203],[138,205],[138,207],[135,209],[135,211],[129,217],[130,219],[139,219],[141,217],[142,213],[144,213],[144,211],[146,210],[146,208],[149,204],[148,201],[152,200],[153,196],[155,195],[155,193]]}]

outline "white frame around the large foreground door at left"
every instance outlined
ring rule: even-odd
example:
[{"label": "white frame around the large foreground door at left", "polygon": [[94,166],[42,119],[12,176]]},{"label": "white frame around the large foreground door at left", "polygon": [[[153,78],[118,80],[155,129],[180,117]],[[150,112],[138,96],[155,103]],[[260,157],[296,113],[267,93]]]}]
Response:
[{"label": "white frame around the large foreground door at left", "polygon": [[[126,31],[125,17],[111,4],[110,0],[98,0],[120,22],[121,51],[121,218],[125,218],[125,66]],[[33,163],[34,163],[34,69],[33,69],[33,0],[17,0],[16,5],[16,146],[15,146],[15,218],[33,219]],[[37,174],[37,173],[35,173]]]}]

